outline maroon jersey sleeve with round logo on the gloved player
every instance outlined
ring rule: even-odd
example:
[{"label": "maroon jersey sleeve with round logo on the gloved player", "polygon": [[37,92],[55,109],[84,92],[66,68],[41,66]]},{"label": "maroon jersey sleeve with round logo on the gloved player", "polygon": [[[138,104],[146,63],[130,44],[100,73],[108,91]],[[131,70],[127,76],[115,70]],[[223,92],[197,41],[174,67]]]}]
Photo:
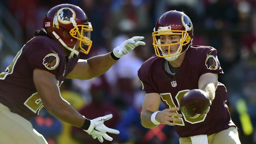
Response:
[{"label": "maroon jersey sleeve with round logo on the gloved player", "polygon": [[[54,50],[50,48],[44,48],[43,45],[39,45],[39,43],[33,42],[30,44],[30,47],[33,47],[35,50],[31,51],[29,55],[27,55],[27,61],[29,65],[35,69],[46,70],[55,76],[57,76],[59,70],[61,69],[61,59]],[[38,48],[41,47],[41,48]]]}]

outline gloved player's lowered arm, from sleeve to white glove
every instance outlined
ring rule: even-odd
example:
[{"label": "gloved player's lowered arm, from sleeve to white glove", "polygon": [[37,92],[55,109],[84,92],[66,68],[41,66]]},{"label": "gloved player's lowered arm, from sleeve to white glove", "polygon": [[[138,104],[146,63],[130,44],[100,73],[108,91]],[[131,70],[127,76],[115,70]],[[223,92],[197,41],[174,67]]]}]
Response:
[{"label": "gloved player's lowered arm, from sleeve to white glove", "polygon": [[88,120],[61,98],[58,82],[54,74],[45,70],[35,69],[33,71],[33,81],[45,109],[59,120],[81,127],[92,135],[94,139],[98,138],[100,142],[103,142],[103,138],[109,141],[113,140],[106,134],[107,132],[119,134],[119,131],[110,129],[103,124],[106,120],[112,118],[112,114]]}]

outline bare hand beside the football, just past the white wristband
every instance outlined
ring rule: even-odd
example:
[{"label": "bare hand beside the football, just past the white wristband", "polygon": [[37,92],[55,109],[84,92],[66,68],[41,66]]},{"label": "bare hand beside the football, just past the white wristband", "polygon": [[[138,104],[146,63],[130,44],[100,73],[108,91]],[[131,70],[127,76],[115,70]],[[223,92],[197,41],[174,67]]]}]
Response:
[{"label": "bare hand beside the football, just past the white wristband", "polygon": [[[176,113],[176,111],[179,111],[180,107],[172,107],[170,109],[164,109],[163,111],[160,111],[158,114],[156,114],[156,121],[160,122],[161,124],[167,124],[169,126],[175,126],[176,122],[181,122],[181,119],[177,117],[182,117],[182,114]],[[172,116],[175,116],[176,118],[173,118]],[[174,122],[170,122],[174,121]]]}]

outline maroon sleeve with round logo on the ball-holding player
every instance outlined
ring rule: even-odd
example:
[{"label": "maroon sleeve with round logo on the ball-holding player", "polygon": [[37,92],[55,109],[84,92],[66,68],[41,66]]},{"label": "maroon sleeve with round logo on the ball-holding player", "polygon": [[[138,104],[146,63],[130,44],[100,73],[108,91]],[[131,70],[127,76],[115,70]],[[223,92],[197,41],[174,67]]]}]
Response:
[{"label": "maroon sleeve with round logo on the ball-holding player", "polygon": [[202,53],[202,70],[200,76],[206,73],[224,74],[219,59],[217,57],[217,50],[215,48],[204,49]]}]

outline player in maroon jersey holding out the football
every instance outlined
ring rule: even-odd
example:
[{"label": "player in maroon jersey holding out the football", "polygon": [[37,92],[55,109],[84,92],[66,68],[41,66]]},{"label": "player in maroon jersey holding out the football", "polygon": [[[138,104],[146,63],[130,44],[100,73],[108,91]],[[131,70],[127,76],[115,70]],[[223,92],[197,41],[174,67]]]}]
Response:
[{"label": "player in maroon jersey holding out the football", "polygon": [[[180,11],[161,15],[152,33],[156,56],[143,63],[138,76],[145,90],[141,124],[153,129],[174,126],[180,144],[240,144],[237,127],[228,111],[226,87],[218,82],[223,70],[217,50],[192,46],[193,24]],[[179,107],[189,90],[204,90],[212,101],[206,114],[185,116]],[[160,102],[166,109],[158,111]]]}]

